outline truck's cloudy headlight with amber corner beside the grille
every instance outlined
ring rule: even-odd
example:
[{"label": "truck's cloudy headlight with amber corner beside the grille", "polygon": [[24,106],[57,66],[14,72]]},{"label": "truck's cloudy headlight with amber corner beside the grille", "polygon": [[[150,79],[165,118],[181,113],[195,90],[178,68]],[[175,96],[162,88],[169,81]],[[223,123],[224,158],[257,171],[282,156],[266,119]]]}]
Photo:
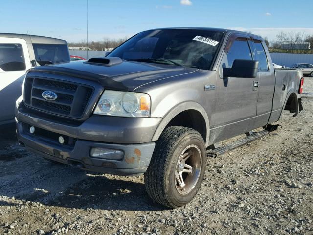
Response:
[{"label": "truck's cloudy headlight with amber corner beside the grille", "polygon": [[120,117],[149,117],[150,106],[148,94],[105,90],[93,113]]}]

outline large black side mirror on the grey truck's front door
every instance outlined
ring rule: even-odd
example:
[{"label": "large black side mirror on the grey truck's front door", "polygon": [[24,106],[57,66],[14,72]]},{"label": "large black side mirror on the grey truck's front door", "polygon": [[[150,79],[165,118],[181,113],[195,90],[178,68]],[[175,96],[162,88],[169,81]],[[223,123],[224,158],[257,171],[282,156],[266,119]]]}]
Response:
[{"label": "large black side mirror on the grey truck's front door", "polygon": [[259,70],[257,60],[234,60],[233,67],[223,68],[224,77],[256,78]]}]

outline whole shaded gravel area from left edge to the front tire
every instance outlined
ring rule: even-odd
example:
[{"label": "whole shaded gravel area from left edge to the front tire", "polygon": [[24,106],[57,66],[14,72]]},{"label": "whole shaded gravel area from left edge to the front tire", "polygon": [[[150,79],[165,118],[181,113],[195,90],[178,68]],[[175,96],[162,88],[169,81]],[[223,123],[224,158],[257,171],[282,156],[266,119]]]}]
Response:
[{"label": "whole shaded gravel area from left edge to the front tire", "polygon": [[111,176],[51,164],[20,146],[10,125],[0,130],[0,206],[19,206],[20,200],[75,209],[167,209],[149,198],[143,176]]}]

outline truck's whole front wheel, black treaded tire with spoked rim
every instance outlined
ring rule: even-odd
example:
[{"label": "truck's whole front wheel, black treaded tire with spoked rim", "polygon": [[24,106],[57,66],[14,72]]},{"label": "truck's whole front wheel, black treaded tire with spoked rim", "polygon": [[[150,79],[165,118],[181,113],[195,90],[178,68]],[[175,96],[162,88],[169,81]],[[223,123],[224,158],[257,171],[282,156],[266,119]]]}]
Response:
[{"label": "truck's whole front wheel, black treaded tire with spoked rim", "polygon": [[202,136],[194,129],[171,126],[156,142],[145,187],[156,202],[178,208],[190,202],[198,192],[206,166]]}]

